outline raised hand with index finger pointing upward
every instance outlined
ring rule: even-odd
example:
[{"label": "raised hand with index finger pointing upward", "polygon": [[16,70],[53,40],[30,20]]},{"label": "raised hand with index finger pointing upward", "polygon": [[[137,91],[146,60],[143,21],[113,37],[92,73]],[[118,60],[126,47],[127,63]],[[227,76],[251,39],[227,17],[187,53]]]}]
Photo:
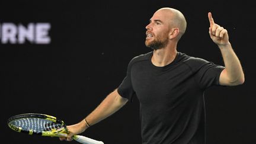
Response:
[{"label": "raised hand with index finger pointing upward", "polygon": [[229,44],[228,31],[225,28],[220,27],[220,25],[215,24],[215,22],[212,18],[211,12],[208,12],[208,18],[209,18],[209,22],[210,22],[210,27],[209,27],[210,38],[219,47],[228,45]]}]

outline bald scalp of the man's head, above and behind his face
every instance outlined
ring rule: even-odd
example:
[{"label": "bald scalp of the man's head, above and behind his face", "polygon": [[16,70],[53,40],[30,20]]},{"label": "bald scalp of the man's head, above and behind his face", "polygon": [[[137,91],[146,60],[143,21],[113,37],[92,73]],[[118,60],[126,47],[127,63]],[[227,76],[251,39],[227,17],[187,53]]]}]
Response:
[{"label": "bald scalp of the man's head, above and behind his face", "polygon": [[169,21],[170,27],[177,27],[180,30],[181,37],[187,28],[187,21],[185,20],[184,15],[174,8],[160,8],[158,9],[155,14],[162,14],[165,15],[165,18]]}]

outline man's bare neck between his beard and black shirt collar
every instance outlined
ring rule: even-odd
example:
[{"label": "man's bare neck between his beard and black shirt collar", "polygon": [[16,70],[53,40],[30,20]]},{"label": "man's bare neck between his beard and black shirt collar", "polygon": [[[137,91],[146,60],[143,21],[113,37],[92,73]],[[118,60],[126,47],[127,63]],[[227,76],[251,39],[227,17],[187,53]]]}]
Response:
[{"label": "man's bare neck between his beard and black shirt collar", "polygon": [[177,55],[176,49],[158,49],[153,50],[153,56],[151,62],[155,66],[166,66],[173,62]]}]

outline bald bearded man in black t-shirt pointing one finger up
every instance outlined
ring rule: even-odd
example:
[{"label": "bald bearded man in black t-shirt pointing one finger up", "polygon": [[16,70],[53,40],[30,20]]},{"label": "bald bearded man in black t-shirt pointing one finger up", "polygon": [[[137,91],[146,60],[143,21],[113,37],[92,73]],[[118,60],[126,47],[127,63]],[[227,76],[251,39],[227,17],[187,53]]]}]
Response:
[{"label": "bald bearded man in black t-shirt pointing one finger up", "polygon": [[225,66],[177,52],[186,30],[184,15],[161,8],[146,26],[145,45],[152,52],[134,57],[120,86],[84,120],[68,126],[72,140],[115,113],[136,95],[140,103],[143,144],[204,144],[204,90],[212,85],[240,85],[244,72],[229,43],[228,31],[208,14],[211,39],[220,49]]}]

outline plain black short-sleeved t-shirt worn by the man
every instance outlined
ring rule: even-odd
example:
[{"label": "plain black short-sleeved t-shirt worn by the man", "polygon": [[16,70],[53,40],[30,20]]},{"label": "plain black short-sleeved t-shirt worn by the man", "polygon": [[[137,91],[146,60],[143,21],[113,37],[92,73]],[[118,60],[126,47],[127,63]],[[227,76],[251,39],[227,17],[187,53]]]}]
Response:
[{"label": "plain black short-sleeved t-shirt worn by the man", "polygon": [[181,52],[163,67],[151,57],[134,57],[117,89],[121,97],[139,100],[142,143],[206,143],[204,90],[219,85],[224,67]]}]

